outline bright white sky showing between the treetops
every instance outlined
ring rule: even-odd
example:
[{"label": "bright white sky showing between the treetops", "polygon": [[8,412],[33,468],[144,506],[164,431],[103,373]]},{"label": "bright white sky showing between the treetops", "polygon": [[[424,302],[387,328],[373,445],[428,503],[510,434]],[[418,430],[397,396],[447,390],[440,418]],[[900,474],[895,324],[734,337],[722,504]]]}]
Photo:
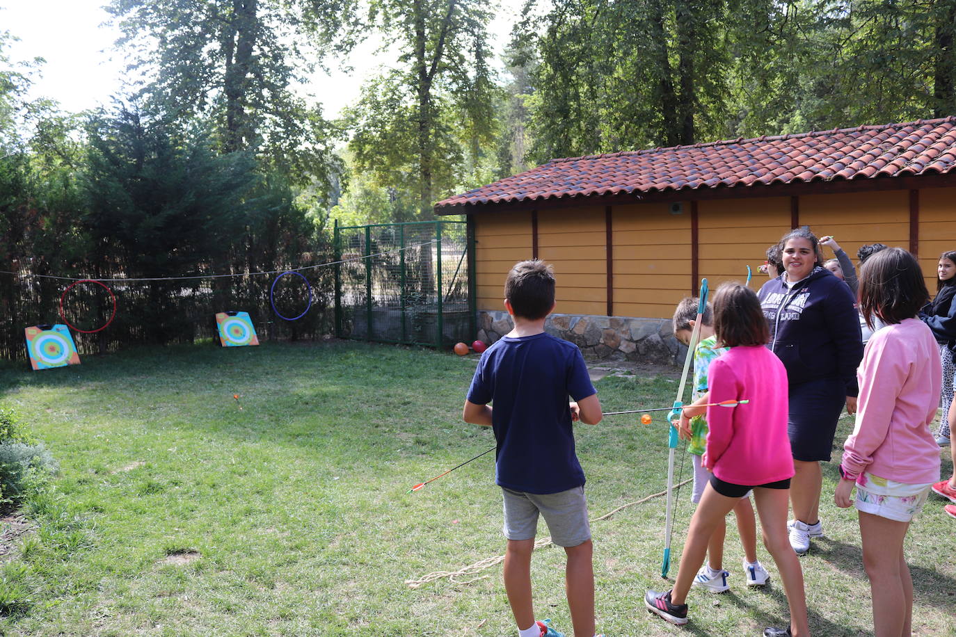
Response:
[{"label": "bright white sky showing between the treetops", "polygon": [[[500,53],[508,41],[522,0],[499,0],[502,5],[490,25],[492,45]],[[34,76],[31,97],[51,97],[69,112],[109,105],[110,96],[123,92],[122,53],[113,49],[120,33],[107,26],[104,0],[0,0],[0,31],[20,38],[6,53],[13,61],[43,57]],[[307,91],[322,104],[325,117],[336,117],[359,97],[362,81],[375,74],[387,56],[366,41],[348,59],[349,74],[319,71]]]}]

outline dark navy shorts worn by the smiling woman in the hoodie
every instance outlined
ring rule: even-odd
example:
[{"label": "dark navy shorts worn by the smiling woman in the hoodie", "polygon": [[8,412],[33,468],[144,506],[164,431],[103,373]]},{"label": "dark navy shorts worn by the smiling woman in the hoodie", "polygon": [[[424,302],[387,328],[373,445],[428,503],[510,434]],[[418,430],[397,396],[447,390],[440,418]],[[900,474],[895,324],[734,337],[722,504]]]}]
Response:
[{"label": "dark navy shorts worn by the smiling woman in the hoodie", "polygon": [[791,385],[787,434],[794,460],[830,461],[836,421],[846,405],[846,387],[837,378]]}]

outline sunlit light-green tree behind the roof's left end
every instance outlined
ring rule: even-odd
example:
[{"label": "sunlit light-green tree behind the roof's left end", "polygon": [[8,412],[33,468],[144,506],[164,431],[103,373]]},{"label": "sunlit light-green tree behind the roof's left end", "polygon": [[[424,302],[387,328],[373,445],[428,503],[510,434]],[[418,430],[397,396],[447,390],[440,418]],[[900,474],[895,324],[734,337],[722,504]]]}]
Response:
[{"label": "sunlit light-green tree behind the roof's left end", "polygon": [[381,183],[412,173],[419,216],[459,183],[466,154],[495,130],[486,0],[376,0],[373,24],[400,52],[396,67],[363,87],[349,112],[360,170]]}]

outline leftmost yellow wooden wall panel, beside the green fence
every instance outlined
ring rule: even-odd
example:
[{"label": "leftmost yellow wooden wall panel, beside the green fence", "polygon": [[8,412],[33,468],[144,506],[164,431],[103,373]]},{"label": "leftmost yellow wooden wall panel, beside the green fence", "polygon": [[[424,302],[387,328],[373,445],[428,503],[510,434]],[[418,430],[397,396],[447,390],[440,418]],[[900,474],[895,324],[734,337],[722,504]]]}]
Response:
[{"label": "leftmost yellow wooden wall panel, beside the green fence", "polygon": [[511,266],[532,258],[532,213],[475,215],[474,224],[477,308],[504,310]]}]

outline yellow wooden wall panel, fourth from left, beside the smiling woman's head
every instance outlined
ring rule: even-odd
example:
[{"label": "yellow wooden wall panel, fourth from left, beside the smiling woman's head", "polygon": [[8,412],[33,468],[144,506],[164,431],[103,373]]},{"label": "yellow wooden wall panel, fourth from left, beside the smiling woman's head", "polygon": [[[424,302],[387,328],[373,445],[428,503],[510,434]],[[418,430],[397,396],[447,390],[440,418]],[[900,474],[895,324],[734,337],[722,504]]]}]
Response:
[{"label": "yellow wooden wall panel, fourth from left, beside the smiling woman's head", "polygon": [[700,276],[713,290],[725,281],[747,281],[750,265],[750,287],[760,289],[770,280],[757,270],[767,248],[790,231],[790,197],[716,200],[697,206]]}]

